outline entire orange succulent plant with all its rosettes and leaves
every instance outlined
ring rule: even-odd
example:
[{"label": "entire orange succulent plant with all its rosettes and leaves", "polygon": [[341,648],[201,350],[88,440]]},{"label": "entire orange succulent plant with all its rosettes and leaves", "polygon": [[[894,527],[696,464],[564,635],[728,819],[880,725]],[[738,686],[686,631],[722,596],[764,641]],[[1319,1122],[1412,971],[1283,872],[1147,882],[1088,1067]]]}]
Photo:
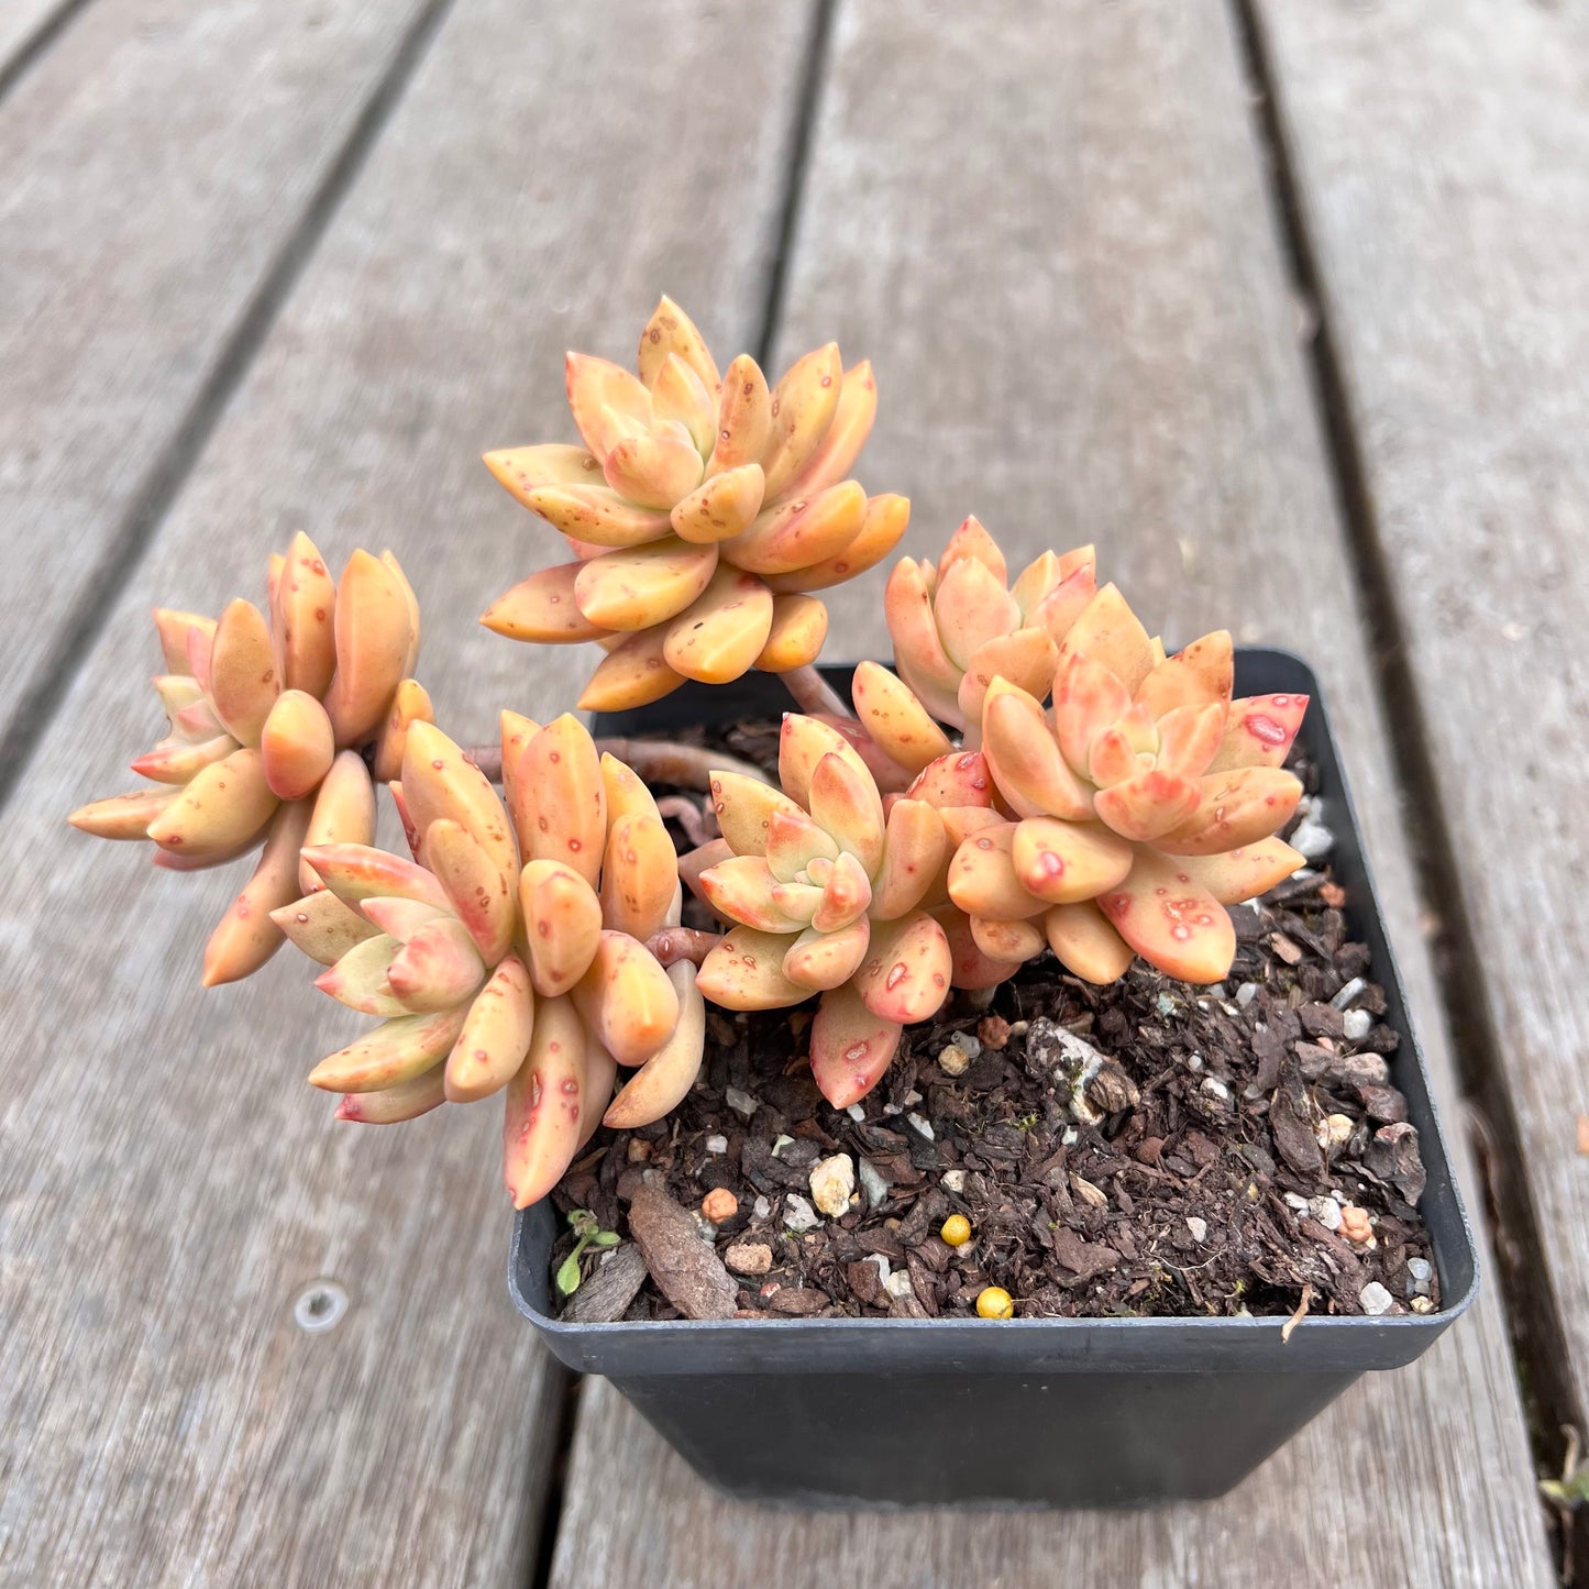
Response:
[{"label": "entire orange succulent plant with all its rosettes and leaves", "polygon": [[[828,345],[771,391],[745,356],[720,377],[663,299],[637,377],[569,354],[567,391],[583,447],[486,461],[575,561],[508,591],[488,626],[601,640],[582,704],[602,709],[748,667],[810,674],[826,632],[810,593],[885,558],[909,512],[844,478],[872,423],[871,367],[844,372]],[[712,772],[721,837],[680,858],[642,779],[572,717],[501,715],[499,796],[481,771],[496,750],[459,750],[410,677],[419,613],[391,553],[356,551],[334,585],[299,535],[272,559],[265,612],[156,613],[170,733],[133,763],[151,787],[72,822],[149,837],[184,871],[264,844],[207,985],[291,938],[326,966],[319,988],[380,1019],[310,1076],[343,1095],[338,1119],[504,1092],[521,1208],[599,1122],[680,1103],[707,998],[818,998],[810,1068],[845,1106],[952,988],[995,987],[1050,949],[1095,982],[1133,953],[1224,977],[1225,906],[1301,864],[1276,833],[1300,794],[1281,764],[1306,698],[1233,701],[1224,631],[1166,658],[1098,588],[1092,547],[1011,583],[974,518],[936,566],[898,563],[885,613],[898,674],[861,663],[853,717],[788,715],[780,787]],[[663,748],[669,777],[699,777],[698,748]],[[373,847],[378,782],[412,860]],[[682,877],[720,936],[680,926]]]}]

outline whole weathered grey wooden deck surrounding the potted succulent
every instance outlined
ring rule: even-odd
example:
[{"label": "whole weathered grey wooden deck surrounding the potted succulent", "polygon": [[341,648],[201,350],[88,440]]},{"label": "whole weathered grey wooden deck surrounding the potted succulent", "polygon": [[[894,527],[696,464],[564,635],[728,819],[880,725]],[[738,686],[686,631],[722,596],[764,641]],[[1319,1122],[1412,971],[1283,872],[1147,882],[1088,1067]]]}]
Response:
[{"label": "whole weathered grey wooden deck surrounding the potted succulent", "polygon": [[[1530,0],[10,0],[0,1584],[1554,1583],[1586,148],[1589,25]],[[151,726],[149,604],[213,609],[297,528],[399,551],[448,721],[570,699],[582,658],[474,623],[539,558],[478,453],[563,434],[563,348],[626,358],[663,289],[720,350],[874,359],[912,551],[971,510],[1014,555],[1096,539],[1168,636],[1324,677],[1508,1263],[1222,1502],[710,1494],[513,1314],[489,1111],[334,1127],[302,968],[197,988],[235,879],[64,826]],[[877,594],[836,653],[883,644]],[[305,1333],[316,1279],[348,1311]]]}]

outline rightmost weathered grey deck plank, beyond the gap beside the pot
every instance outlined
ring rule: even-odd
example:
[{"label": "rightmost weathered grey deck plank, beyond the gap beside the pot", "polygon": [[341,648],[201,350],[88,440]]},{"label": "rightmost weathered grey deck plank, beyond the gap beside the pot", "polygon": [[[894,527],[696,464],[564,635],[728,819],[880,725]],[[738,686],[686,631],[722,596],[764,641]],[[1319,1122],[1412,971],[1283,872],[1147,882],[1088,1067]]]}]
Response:
[{"label": "rightmost weathered grey deck plank, beyond the gap beside the pot", "polygon": [[1584,1408],[1589,17],[1473,0],[1260,17],[1484,968],[1537,1278]]}]

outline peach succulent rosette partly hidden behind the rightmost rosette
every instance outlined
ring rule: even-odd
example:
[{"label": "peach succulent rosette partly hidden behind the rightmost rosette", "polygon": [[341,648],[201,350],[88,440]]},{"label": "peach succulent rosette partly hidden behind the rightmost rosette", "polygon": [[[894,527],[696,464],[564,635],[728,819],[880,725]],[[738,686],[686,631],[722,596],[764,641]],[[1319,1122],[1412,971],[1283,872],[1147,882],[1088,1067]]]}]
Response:
[{"label": "peach succulent rosette partly hidden behind the rightmost rosette", "polygon": [[976,518],[936,567],[901,558],[883,597],[898,675],[871,661],[856,667],[861,728],[907,774],[953,748],[941,723],[976,747],[995,677],[1047,694],[1058,645],[1096,591],[1093,569],[1092,547],[1046,551],[1011,586],[1004,553]]}]

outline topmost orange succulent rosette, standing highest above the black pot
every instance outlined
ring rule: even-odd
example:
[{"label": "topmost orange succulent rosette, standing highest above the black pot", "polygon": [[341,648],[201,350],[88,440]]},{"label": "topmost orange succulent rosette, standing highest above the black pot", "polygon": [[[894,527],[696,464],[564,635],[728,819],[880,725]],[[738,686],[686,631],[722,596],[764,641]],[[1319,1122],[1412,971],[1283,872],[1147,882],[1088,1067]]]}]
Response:
[{"label": "topmost orange succulent rosette, standing highest above the black pot", "polygon": [[583,445],[485,459],[575,561],[515,585],[481,621],[518,640],[602,642],[607,658],[580,698],[597,710],[644,706],[686,679],[807,666],[828,632],[812,593],[885,558],[909,520],[903,497],[868,497],[845,478],[877,389],[871,365],[845,370],[836,343],[769,389],[748,354],[720,375],[664,297],[637,370],[570,353]]}]

